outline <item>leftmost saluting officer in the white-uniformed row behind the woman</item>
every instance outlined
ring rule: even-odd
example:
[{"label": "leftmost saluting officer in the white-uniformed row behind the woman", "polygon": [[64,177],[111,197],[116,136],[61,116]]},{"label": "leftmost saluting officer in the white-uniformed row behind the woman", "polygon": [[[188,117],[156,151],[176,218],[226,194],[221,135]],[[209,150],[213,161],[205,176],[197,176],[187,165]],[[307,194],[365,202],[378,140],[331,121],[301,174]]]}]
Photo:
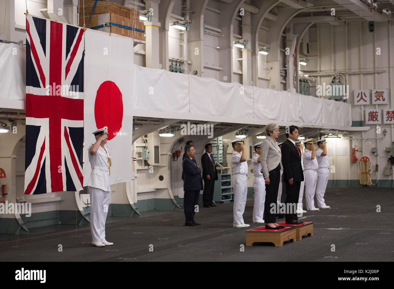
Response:
[{"label": "leftmost saluting officer in the white-uniformed row behind the woman", "polygon": [[245,228],[250,225],[243,221],[243,212],[245,212],[247,196],[247,161],[245,143],[242,138],[237,138],[231,142],[234,152],[231,156],[231,184],[234,192],[233,215],[234,228]]}]

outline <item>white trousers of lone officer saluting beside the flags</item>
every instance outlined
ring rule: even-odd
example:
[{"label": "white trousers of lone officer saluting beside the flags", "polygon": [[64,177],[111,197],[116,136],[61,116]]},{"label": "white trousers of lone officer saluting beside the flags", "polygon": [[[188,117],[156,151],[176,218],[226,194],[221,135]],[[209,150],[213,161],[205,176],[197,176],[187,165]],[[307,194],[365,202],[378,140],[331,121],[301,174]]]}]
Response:
[{"label": "white trousers of lone officer saluting beside the flags", "polygon": [[90,231],[93,242],[105,240],[105,220],[110,203],[110,192],[87,187],[90,195]]}]

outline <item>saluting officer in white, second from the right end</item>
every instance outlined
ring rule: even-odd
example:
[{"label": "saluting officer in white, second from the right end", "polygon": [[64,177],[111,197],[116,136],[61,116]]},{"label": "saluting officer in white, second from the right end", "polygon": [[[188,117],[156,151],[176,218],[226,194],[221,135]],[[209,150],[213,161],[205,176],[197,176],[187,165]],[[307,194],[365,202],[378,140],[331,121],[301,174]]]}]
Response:
[{"label": "saluting officer in white, second from the right end", "polygon": [[314,200],[319,168],[318,160],[316,158],[316,147],[312,138],[306,140],[304,144],[305,201],[307,202],[308,211],[318,211],[319,209],[315,207]]}]

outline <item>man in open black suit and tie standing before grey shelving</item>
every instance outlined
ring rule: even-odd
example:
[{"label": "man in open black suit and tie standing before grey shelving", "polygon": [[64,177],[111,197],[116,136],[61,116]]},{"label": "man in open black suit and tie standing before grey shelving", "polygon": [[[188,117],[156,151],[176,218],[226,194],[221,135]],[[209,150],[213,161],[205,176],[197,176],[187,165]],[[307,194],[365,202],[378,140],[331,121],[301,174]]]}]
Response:
[{"label": "man in open black suit and tie standing before grey shelving", "polygon": [[205,153],[201,156],[201,165],[203,166],[204,192],[203,205],[204,208],[216,207],[213,201],[215,180],[217,180],[216,163],[212,153],[212,144],[205,145]]}]

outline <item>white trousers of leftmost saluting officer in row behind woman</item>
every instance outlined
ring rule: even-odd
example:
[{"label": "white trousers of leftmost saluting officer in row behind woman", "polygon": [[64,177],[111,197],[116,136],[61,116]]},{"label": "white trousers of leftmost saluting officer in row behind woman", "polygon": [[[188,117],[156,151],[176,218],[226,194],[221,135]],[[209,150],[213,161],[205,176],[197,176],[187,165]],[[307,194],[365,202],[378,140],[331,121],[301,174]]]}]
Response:
[{"label": "white trousers of leftmost saluting officer in row behind woman", "polygon": [[247,178],[246,175],[235,174],[231,176],[232,188],[234,192],[234,206],[232,208],[234,215],[234,224],[245,224],[243,221],[243,212],[245,212],[247,196]]}]

